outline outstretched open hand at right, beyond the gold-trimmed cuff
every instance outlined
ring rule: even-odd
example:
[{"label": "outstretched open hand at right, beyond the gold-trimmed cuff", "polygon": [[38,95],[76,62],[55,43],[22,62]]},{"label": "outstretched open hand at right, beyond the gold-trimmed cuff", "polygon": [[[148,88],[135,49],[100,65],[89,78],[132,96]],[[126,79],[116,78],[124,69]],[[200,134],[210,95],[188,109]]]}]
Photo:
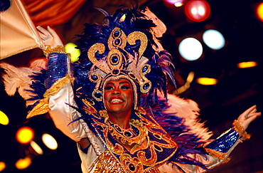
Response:
[{"label": "outstretched open hand at right, beyond the gold-trimmed cuff", "polygon": [[257,105],[254,105],[243,112],[237,120],[240,122],[240,125],[244,127],[244,130],[246,130],[250,122],[254,121],[260,115],[261,112],[257,112]]}]

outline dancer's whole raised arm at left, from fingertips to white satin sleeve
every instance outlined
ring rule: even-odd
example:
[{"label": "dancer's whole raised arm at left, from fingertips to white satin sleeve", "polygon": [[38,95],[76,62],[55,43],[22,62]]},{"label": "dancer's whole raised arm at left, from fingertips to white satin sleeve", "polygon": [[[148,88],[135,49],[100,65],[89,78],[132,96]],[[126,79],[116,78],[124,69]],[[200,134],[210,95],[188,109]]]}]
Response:
[{"label": "dancer's whole raised arm at left, from fingertips to white satin sleeve", "polygon": [[76,142],[89,145],[87,135],[79,121],[73,120],[80,117],[80,113],[73,107],[77,107],[72,88],[73,78],[70,76],[70,62],[65,53],[63,43],[55,31],[48,26],[47,30],[38,26],[39,35],[42,38],[43,52],[48,58],[45,79],[45,95],[47,98],[48,112],[55,126],[65,135]]}]

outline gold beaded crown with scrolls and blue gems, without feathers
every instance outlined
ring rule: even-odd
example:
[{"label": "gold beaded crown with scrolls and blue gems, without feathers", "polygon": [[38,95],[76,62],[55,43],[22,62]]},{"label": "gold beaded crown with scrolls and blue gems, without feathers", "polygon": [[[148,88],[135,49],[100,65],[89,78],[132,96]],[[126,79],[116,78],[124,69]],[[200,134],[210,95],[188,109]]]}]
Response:
[{"label": "gold beaded crown with scrolls and blue gems, without feathers", "polygon": [[[135,45],[136,41],[140,41],[139,51],[135,53],[137,57],[132,56],[125,51],[127,44]],[[151,81],[145,75],[151,71],[151,65],[146,64],[148,59],[143,55],[146,50],[148,40],[141,31],[134,31],[128,36],[122,29],[115,27],[109,35],[107,46],[109,53],[104,60],[97,60],[96,54],[102,54],[106,50],[103,43],[93,44],[87,51],[87,57],[97,67],[96,70],[90,73],[89,78],[93,83],[96,83],[95,90],[92,92],[92,97],[97,101],[102,101],[102,92],[105,79],[118,80],[119,78],[126,78],[131,81],[134,88],[134,101],[137,103],[136,83],[139,83],[139,90],[141,93],[147,93],[151,89]],[[128,56],[128,58],[127,58]]]}]

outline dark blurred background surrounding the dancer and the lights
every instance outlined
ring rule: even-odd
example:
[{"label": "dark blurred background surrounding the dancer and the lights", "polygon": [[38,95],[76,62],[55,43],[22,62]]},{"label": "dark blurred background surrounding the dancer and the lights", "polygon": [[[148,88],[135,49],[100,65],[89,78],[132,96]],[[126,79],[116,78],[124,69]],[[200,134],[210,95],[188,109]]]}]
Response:
[{"label": "dark blurred background surrounding the dancer and the lights", "polygon": [[[70,21],[59,26],[53,26],[65,43],[73,42],[75,34],[81,33],[82,23],[100,23],[103,15],[93,6],[113,13],[119,6],[129,7],[139,4],[141,9],[148,6],[167,26],[167,31],[161,38],[163,47],[173,55],[176,67],[175,76],[177,88],[186,82],[190,71],[195,72],[195,78],[217,78],[217,85],[200,85],[191,83],[182,98],[195,100],[200,107],[200,118],[213,130],[218,137],[231,127],[235,120],[247,108],[257,105],[263,111],[262,95],[262,58],[263,32],[262,21],[257,19],[255,6],[262,1],[218,1],[210,0],[210,17],[202,22],[189,21],[183,6],[176,8],[163,1],[85,1]],[[226,45],[219,51],[213,51],[202,41],[202,34],[206,29],[213,28],[220,31],[226,39]],[[188,36],[197,38],[203,44],[203,56],[198,61],[183,61],[178,54],[178,42]],[[36,57],[41,57],[39,49],[26,51],[16,56],[6,58],[11,64],[21,66]],[[21,60],[23,59],[23,61]],[[237,68],[242,61],[257,61],[254,68]],[[171,91],[175,88],[170,87]],[[0,161],[6,162],[4,172],[81,172],[80,158],[76,144],[62,132],[57,130],[48,115],[38,115],[26,120],[26,108],[18,94],[9,97],[4,92],[4,85],[0,84],[0,110],[9,116],[9,125],[0,125]],[[216,168],[215,172],[263,172],[263,125],[262,117],[247,129],[252,133],[252,139],[236,147],[232,152],[232,160]],[[44,154],[36,155],[29,145],[16,142],[16,130],[22,126],[29,126],[35,130],[36,141],[41,145]],[[58,141],[58,150],[48,150],[41,142],[43,132],[53,135]],[[17,159],[31,155],[33,162],[24,170],[17,170],[14,163]]]}]

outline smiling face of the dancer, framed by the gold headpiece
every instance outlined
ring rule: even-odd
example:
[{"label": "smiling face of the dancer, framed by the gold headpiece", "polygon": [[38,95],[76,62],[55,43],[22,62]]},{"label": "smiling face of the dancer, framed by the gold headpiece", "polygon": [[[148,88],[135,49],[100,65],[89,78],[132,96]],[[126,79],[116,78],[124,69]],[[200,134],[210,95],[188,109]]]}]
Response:
[{"label": "smiling face of the dancer, framed by the gold headpiece", "polygon": [[131,112],[134,107],[134,91],[129,80],[109,80],[104,88],[104,105],[112,114]]}]

